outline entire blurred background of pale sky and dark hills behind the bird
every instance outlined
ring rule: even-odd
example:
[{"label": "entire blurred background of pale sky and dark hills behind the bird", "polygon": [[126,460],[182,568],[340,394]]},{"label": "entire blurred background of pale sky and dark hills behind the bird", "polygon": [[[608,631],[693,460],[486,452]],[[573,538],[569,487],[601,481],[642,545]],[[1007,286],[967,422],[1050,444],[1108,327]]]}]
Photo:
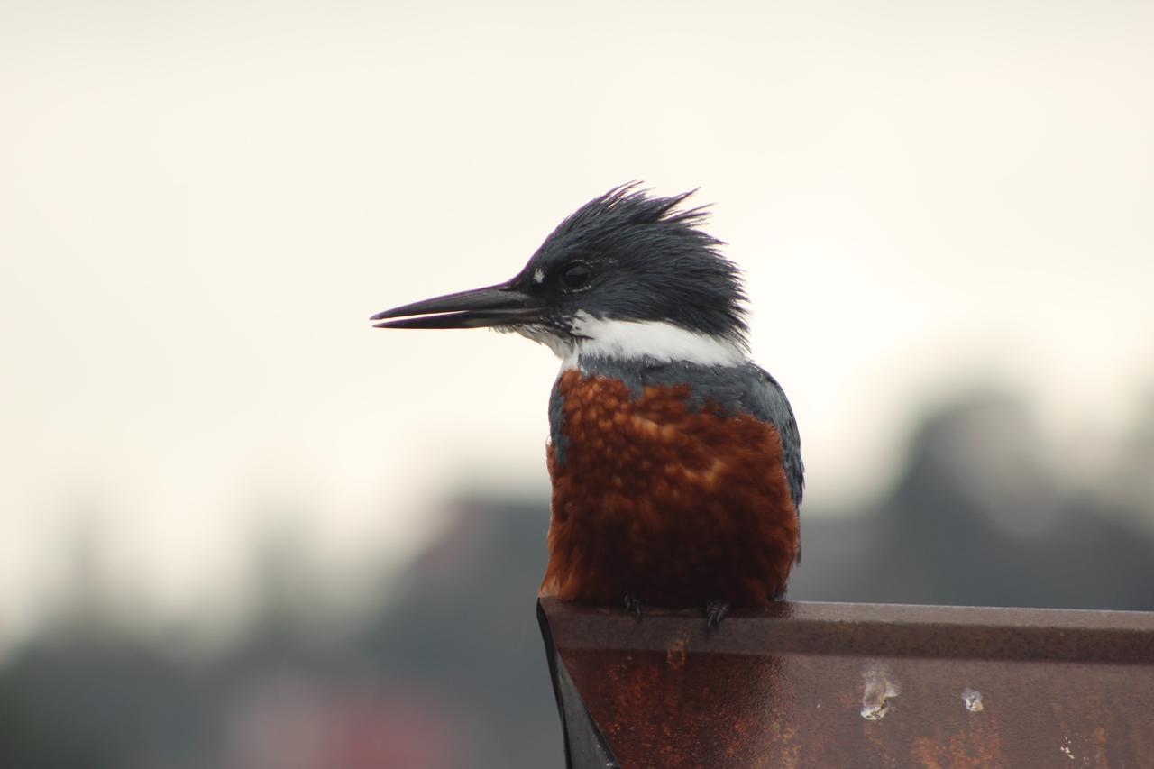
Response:
[{"label": "entire blurred background of pale sky and dark hills behind the bird", "polygon": [[0,1],[0,766],[561,767],[556,361],[368,316],[700,187],[799,600],[1154,609],[1154,7]]}]

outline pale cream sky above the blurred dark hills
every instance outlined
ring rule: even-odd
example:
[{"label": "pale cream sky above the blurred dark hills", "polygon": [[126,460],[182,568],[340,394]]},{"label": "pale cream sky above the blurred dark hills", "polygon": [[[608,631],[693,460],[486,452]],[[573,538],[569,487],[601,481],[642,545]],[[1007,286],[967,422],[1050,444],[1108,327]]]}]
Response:
[{"label": "pale cream sky above the blurred dark hills", "polygon": [[367,318],[631,179],[714,203],[811,508],[987,380],[1092,473],[1154,383],[1151,40],[1145,2],[3,0],[0,644],[84,516],[179,615],[278,515],[349,576],[456,490],[544,494],[552,353]]}]

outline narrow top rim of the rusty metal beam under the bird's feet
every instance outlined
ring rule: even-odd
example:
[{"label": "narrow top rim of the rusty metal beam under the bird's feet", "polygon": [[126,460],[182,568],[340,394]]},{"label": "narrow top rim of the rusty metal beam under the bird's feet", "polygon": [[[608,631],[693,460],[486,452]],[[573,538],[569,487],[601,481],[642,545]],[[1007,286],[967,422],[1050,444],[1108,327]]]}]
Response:
[{"label": "narrow top rim of the rusty metal beam under the bird's feet", "polygon": [[539,602],[561,648],[710,654],[803,654],[1082,663],[1154,663],[1154,612],[881,604],[789,604],[734,610],[710,629],[699,612]]}]

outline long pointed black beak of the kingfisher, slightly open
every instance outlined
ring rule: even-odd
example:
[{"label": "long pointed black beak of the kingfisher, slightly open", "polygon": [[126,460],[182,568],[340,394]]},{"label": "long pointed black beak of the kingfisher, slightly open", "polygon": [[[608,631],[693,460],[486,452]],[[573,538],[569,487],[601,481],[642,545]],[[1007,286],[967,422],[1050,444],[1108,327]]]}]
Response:
[{"label": "long pointed black beak of the kingfisher, slightly open", "polygon": [[402,305],[369,320],[384,321],[374,328],[485,328],[532,323],[541,311],[538,300],[502,283]]}]

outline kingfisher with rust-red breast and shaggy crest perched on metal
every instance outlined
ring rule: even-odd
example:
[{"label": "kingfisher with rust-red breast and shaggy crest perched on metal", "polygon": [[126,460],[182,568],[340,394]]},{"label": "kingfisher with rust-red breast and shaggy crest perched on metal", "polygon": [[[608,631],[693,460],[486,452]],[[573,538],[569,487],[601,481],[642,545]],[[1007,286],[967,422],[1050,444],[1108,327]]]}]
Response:
[{"label": "kingfisher with rust-red breast and shaggy crest perched on metal", "polygon": [[750,360],[747,298],[695,191],[614,187],[496,285],[385,309],[376,328],[493,328],[561,358],[539,596],[699,607],[780,599],[800,560],[804,466],[785,391]]}]

